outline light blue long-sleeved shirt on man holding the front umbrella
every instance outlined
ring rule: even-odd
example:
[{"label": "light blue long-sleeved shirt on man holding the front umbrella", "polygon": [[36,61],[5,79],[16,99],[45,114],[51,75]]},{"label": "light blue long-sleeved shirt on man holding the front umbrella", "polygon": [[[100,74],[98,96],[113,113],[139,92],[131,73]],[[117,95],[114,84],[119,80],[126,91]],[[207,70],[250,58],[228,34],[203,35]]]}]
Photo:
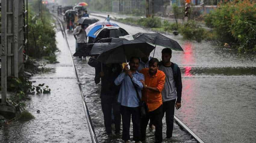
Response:
[{"label": "light blue long-sleeved shirt on man holding the front umbrella", "polygon": [[131,79],[128,75],[122,72],[114,81],[116,85],[121,84],[117,102],[126,107],[139,107],[139,99],[132,80],[133,83],[135,83],[141,98],[141,90],[143,85],[140,80],[144,80],[144,75],[139,72],[135,72],[133,73],[133,78]]}]

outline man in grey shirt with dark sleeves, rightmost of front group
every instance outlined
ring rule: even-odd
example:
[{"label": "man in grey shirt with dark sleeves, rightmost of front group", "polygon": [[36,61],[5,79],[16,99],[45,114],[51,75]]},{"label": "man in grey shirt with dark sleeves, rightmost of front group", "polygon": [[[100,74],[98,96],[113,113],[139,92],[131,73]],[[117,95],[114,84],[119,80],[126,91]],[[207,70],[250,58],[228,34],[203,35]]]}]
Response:
[{"label": "man in grey shirt with dark sleeves, rightmost of front group", "polygon": [[161,66],[159,66],[159,70],[163,71],[165,74],[165,83],[164,89],[162,91],[162,99],[167,125],[167,139],[172,138],[174,108],[176,107],[176,109],[179,109],[181,107],[180,102],[182,92],[180,68],[178,67],[177,64],[170,62],[171,57],[172,50],[170,48],[164,48],[162,50]]}]

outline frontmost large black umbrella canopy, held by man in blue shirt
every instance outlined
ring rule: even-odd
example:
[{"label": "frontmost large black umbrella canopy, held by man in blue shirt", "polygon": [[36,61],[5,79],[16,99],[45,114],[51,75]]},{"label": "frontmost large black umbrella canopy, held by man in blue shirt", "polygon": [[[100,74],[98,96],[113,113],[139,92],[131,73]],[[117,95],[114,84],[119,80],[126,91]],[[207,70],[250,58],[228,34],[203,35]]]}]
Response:
[{"label": "frontmost large black umbrella canopy, held by man in blue shirt", "polygon": [[98,56],[101,63],[126,63],[131,57],[145,57],[155,48],[154,46],[139,40],[123,40],[104,48]]}]

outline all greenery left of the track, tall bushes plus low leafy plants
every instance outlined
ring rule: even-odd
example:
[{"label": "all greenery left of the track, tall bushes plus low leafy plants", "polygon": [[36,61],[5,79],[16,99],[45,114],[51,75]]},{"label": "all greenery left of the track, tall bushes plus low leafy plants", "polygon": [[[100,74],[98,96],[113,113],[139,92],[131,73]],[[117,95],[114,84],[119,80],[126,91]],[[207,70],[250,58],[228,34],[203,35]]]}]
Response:
[{"label": "all greenery left of the track, tall bushes plus low leafy plants", "polygon": [[[28,16],[28,44],[25,49],[29,56],[24,63],[25,71],[32,71],[38,73],[38,66],[35,66],[36,60],[45,59],[48,63],[56,63],[55,52],[58,50],[55,39],[54,21],[50,16],[48,9],[42,5],[41,13],[39,14],[38,7],[39,0],[30,1],[29,16]],[[1,13],[0,13],[1,26]],[[1,28],[0,28],[1,29]],[[35,60],[36,59],[36,60]],[[19,77],[7,77],[7,105],[16,108],[19,116],[6,122],[9,124],[14,120],[27,121],[33,117],[31,113],[26,111],[26,101],[30,100],[29,95],[34,94],[48,94],[51,89],[45,84],[33,85],[29,80],[31,75],[19,74]],[[1,85],[0,85],[1,90]],[[1,117],[0,123],[5,119]]]}]

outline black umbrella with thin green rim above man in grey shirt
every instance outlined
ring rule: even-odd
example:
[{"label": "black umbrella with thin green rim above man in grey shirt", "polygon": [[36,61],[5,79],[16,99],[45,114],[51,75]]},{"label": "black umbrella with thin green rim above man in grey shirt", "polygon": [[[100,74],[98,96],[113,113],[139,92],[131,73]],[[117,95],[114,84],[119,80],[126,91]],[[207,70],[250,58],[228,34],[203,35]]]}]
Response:
[{"label": "black umbrella with thin green rim above man in grey shirt", "polygon": [[177,41],[170,39],[160,33],[137,33],[133,35],[133,38],[154,45],[160,45],[165,48],[171,48],[176,51],[183,51]]}]

